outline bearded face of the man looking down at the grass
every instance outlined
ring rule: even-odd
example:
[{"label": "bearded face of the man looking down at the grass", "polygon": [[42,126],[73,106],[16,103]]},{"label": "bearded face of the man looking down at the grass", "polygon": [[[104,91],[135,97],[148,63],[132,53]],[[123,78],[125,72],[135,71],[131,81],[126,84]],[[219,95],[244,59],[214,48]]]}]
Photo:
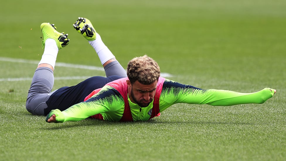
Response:
[{"label": "bearded face of the man looking down at the grass", "polygon": [[152,84],[141,84],[138,81],[133,84],[127,80],[128,95],[131,102],[138,104],[140,107],[147,107],[153,101],[158,81]]}]

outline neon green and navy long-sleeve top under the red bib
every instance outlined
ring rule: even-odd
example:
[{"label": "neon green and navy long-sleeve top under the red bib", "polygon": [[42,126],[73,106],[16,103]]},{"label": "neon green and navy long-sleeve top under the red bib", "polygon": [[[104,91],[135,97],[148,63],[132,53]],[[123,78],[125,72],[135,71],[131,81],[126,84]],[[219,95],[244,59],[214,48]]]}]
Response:
[{"label": "neon green and navy long-sleeve top under the red bib", "polygon": [[[127,88],[127,86],[126,86]],[[164,111],[173,104],[208,104],[212,106],[232,106],[237,104],[262,104],[275,93],[274,89],[264,88],[253,93],[240,93],[218,89],[199,89],[187,84],[181,84],[165,79],[159,97],[159,110]],[[154,101],[154,100],[153,100]],[[147,107],[140,107],[128,98],[133,121],[146,121],[150,118],[153,101]],[[52,110],[46,121],[53,114],[56,123],[65,121],[80,121],[101,113],[104,120],[120,121],[124,112],[124,99],[113,87],[105,85],[97,94],[87,101],[75,104],[64,111]]]}]

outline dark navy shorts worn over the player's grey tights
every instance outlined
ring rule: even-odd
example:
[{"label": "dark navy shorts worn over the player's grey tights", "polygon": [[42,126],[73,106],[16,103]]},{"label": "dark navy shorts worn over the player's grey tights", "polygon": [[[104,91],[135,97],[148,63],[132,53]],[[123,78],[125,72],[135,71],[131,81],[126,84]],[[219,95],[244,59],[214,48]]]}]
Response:
[{"label": "dark navy shorts worn over the player's grey tights", "polygon": [[47,108],[44,109],[45,115],[49,114],[53,109],[64,111],[74,104],[84,101],[93,90],[102,88],[108,82],[112,82],[122,77],[113,75],[110,77],[95,76],[80,82],[71,87],[62,87],[52,93],[46,101]]}]

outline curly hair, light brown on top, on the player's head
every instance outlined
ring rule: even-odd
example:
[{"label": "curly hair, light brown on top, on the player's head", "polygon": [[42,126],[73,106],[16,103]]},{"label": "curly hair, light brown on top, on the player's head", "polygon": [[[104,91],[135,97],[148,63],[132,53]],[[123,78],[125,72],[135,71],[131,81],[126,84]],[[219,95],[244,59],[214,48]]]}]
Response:
[{"label": "curly hair, light brown on top, on the player's head", "polygon": [[127,65],[127,77],[131,84],[135,81],[151,84],[159,80],[160,67],[155,60],[147,55],[135,57]]}]

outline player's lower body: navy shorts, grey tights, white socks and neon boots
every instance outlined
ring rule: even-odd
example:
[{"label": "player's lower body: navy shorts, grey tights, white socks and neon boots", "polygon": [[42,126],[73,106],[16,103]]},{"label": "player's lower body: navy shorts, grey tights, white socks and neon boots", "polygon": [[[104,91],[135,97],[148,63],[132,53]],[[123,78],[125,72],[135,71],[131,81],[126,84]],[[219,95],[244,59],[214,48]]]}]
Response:
[{"label": "player's lower body: navy shorts, grey tights, white socks and neon boots", "polygon": [[62,87],[51,92],[54,85],[53,71],[58,51],[69,44],[69,39],[67,34],[64,35],[64,33],[57,32],[54,24],[42,23],[40,28],[44,38],[42,41],[44,53],[28,91],[26,109],[30,113],[47,115],[52,109],[65,110],[74,104],[84,101],[88,94],[95,89],[103,87],[106,83],[127,77],[125,69],[105,46],[90,21],[85,18],[79,18],[74,23],[74,28],[88,40],[88,43],[96,51],[104,67],[106,77],[91,77],[75,86]]}]

